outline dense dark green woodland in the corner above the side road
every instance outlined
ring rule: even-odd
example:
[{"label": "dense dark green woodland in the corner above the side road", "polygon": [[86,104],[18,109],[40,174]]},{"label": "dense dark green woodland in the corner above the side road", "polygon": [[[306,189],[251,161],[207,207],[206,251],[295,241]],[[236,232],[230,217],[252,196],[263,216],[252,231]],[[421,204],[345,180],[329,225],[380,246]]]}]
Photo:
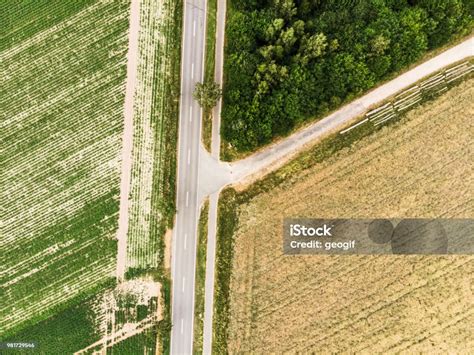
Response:
[{"label": "dense dark green woodland in the corner above the side road", "polygon": [[231,0],[222,134],[253,150],[472,30],[470,0]]}]

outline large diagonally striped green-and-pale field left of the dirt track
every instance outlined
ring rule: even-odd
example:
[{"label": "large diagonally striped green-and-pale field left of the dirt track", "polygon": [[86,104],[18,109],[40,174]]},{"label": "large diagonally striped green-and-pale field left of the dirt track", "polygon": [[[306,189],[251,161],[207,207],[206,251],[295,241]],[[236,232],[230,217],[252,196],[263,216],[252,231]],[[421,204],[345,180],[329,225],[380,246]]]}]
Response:
[{"label": "large diagonally striped green-and-pale field left of the dirt track", "polygon": [[9,3],[23,22],[1,53],[2,335],[114,277],[129,16],[126,1]]}]

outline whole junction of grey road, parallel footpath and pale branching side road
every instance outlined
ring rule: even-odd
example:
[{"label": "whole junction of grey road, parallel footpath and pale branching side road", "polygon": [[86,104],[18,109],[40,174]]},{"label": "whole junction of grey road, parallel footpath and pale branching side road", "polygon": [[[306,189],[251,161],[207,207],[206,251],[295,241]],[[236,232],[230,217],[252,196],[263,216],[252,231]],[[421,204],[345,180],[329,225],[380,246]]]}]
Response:
[{"label": "whole junction of grey road, parallel footpath and pale branching side road", "polygon": [[[225,0],[218,1],[216,79],[222,84]],[[220,11],[220,12],[219,12]],[[171,353],[193,353],[194,289],[199,210],[210,197],[204,315],[204,354],[211,353],[216,248],[217,201],[225,186],[250,183],[269,172],[324,135],[346,127],[374,105],[442,68],[474,55],[474,38],[439,54],[377,87],[368,94],[308,125],[293,135],[234,163],[219,160],[221,102],[214,111],[212,151],[201,144],[202,110],[193,100],[196,82],[203,81],[206,37],[206,0],[188,0],[184,7],[182,42],[180,127],[178,146],[177,215],[172,249]]]}]

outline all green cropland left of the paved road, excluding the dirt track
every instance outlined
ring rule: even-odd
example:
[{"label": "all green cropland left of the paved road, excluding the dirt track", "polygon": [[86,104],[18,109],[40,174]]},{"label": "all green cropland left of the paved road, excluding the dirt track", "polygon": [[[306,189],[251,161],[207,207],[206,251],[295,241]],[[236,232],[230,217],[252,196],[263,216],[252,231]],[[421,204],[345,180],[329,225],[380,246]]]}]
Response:
[{"label": "all green cropland left of the paved road, excluding the dirt track", "polygon": [[[6,24],[0,57],[0,248],[9,251],[0,256],[2,340],[37,341],[52,354],[86,348],[110,332],[115,345],[108,353],[146,347],[154,354],[157,346],[169,346],[162,237],[175,212],[182,3],[140,3],[130,281],[116,285],[129,5],[0,5]],[[162,286],[142,304],[141,296],[120,291],[129,282]],[[138,298],[110,313],[110,302],[118,302],[121,292]],[[97,308],[105,296],[109,305]],[[125,323],[138,330],[122,334]]]}]

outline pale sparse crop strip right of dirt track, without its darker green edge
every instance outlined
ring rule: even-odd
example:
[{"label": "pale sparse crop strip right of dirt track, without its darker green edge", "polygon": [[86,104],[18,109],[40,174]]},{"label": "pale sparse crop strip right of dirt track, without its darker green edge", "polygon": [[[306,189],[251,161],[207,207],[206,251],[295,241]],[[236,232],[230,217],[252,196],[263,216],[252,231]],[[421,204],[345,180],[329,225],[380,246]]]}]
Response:
[{"label": "pale sparse crop strip right of dirt track, without its darker green edge", "polygon": [[[161,13],[158,2],[142,2],[140,16],[138,86],[135,93],[134,112],[134,165],[132,169],[130,228],[128,233],[127,265],[140,267],[142,263],[157,266],[157,250],[151,252],[150,219],[153,174],[155,167],[155,125],[161,119],[160,111],[154,111],[155,82],[159,80],[155,66],[161,67],[165,56],[159,55],[163,34],[158,27]],[[161,73],[164,73],[162,71]],[[155,254],[155,255],[153,255]],[[148,256],[148,261],[146,260]],[[143,265],[146,267],[146,265]]]}]

